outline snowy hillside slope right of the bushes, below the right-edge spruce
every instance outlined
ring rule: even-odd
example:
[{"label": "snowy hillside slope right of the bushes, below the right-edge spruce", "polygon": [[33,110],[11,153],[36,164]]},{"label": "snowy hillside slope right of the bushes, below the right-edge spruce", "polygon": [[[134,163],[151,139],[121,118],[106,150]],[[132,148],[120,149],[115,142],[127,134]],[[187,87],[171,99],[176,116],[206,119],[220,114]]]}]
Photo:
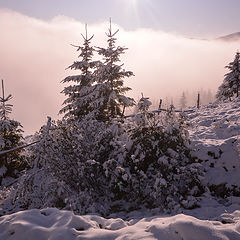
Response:
[{"label": "snowy hillside slope right of the bushes, below the right-edge spruce", "polygon": [[239,195],[240,101],[209,104],[189,117],[195,155],[207,170],[205,182],[221,197],[227,189]]}]

